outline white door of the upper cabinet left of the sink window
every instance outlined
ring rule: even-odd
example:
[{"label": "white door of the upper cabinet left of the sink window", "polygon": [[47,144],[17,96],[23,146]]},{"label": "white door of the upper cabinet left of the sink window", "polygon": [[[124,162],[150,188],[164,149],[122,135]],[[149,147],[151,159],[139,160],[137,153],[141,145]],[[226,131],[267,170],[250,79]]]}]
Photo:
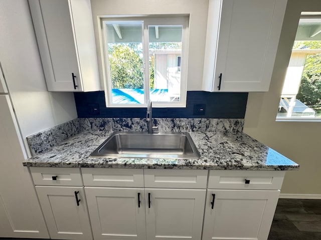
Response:
[{"label": "white door of the upper cabinet left of the sink window", "polygon": [[[40,0],[40,7],[49,48],[51,61],[49,63],[52,67],[48,72],[45,71],[48,89],[82,90],[69,1]],[[42,57],[42,60],[44,62],[47,59]],[[76,76],[75,83],[78,85],[76,89],[74,89],[72,73]]]}]

